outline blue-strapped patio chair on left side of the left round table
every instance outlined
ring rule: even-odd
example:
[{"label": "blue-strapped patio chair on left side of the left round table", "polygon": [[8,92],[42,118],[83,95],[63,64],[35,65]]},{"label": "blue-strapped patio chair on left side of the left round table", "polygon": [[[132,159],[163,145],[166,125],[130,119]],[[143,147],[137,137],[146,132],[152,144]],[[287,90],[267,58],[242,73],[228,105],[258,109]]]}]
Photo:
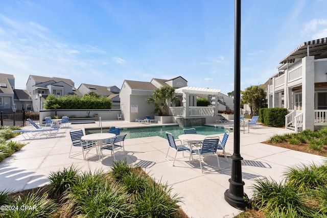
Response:
[{"label": "blue-strapped patio chair on left side of the left round table", "polygon": [[[71,135],[72,146],[71,146],[71,150],[69,151],[68,157],[69,158],[72,157],[71,152],[72,152],[73,147],[81,147],[82,148],[82,153],[83,153],[83,158],[84,158],[84,160],[86,160],[86,154],[92,148],[95,148],[94,143],[82,140],[82,136],[84,136],[84,133],[83,133],[82,129],[73,129],[73,130],[69,131],[69,134]],[[84,155],[84,151],[86,151],[85,155]]]}]

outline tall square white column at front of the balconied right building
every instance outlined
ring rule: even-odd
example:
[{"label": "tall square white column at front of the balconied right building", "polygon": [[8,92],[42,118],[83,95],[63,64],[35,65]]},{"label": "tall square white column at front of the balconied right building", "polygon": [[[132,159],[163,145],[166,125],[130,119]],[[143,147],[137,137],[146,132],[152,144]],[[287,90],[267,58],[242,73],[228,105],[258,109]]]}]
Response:
[{"label": "tall square white column at front of the balconied right building", "polygon": [[314,130],[315,97],[314,56],[302,58],[302,112],[303,130]]}]

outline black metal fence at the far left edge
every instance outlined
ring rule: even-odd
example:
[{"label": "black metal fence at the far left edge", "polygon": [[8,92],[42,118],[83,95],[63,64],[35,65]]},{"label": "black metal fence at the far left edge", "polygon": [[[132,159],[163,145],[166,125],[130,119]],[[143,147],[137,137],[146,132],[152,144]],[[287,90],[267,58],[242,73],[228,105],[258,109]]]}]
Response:
[{"label": "black metal fence at the far left edge", "polygon": [[3,113],[0,111],[1,126],[29,126],[28,118],[32,119],[34,123],[39,125],[39,112],[33,111],[16,111],[13,113]]}]

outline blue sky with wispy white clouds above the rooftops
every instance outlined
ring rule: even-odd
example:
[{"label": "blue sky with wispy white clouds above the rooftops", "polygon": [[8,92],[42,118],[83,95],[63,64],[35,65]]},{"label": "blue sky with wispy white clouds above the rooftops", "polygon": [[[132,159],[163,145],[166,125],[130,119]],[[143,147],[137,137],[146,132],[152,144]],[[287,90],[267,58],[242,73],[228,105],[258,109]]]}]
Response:
[{"label": "blue sky with wispy white clouds above the rooftops", "polygon": [[[0,72],[118,86],[182,76],[234,81],[234,1],[0,0]],[[327,37],[327,0],[243,0],[241,89],[263,84],[302,42]]]}]

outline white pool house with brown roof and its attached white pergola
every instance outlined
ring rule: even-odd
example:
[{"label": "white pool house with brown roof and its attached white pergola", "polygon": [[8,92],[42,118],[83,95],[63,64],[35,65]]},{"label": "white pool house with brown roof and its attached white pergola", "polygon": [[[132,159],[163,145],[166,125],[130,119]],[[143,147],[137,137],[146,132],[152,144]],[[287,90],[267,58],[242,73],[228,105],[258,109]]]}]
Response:
[{"label": "white pool house with brown roof and its attached white pergola", "polygon": [[154,106],[147,103],[147,98],[153,91],[165,85],[175,89],[175,95],[180,100],[180,105],[169,105],[169,115],[181,126],[196,126],[206,123],[206,119],[218,115],[218,101],[213,106],[197,107],[198,96],[211,96],[218,99],[219,89],[199,88],[187,86],[188,81],[182,77],[173,79],[152,79],[150,82],[125,80],[123,82],[120,98],[121,110],[125,120],[135,122],[136,118],[144,118],[146,115],[154,116]]}]

